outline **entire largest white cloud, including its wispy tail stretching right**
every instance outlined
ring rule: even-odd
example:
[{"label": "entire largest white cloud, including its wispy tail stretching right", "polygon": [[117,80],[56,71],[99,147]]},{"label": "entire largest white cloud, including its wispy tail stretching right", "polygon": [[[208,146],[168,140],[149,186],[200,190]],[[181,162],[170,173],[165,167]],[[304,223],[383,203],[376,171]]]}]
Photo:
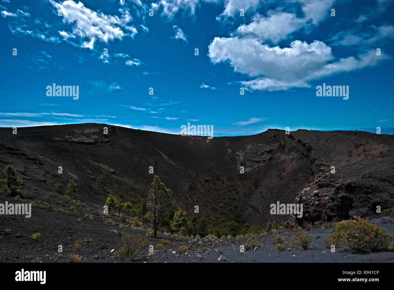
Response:
[{"label": "entire largest white cloud, including its wispy tail stretching right", "polygon": [[309,87],[308,81],[340,72],[349,72],[377,64],[387,56],[376,56],[371,50],[356,57],[333,61],[331,48],[324,42],[292,41],[280,48],[251,38],[215,37],[208,55],[212,63],[228,62],[235,72],[258,77],[241,83],[251,89],[282,90]]}]

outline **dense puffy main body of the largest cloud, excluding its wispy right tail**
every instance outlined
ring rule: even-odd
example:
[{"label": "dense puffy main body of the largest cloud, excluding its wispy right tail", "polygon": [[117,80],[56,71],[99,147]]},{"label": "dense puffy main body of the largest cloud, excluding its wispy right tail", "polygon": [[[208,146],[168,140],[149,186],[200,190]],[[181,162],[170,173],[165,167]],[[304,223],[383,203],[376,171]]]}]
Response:
[{"label": "dense puffy main body of the largest cloud, excluding its wispy right tail", "polygon": [[[286,52],[289,55],[286,55]],[[290,48],[270,47],[255,39],[220,38],[211,42],[208,55],[213,63],[229,61],[234,71],[249,76],[298,79],[333,58],[321,41],[293,41]]]}]

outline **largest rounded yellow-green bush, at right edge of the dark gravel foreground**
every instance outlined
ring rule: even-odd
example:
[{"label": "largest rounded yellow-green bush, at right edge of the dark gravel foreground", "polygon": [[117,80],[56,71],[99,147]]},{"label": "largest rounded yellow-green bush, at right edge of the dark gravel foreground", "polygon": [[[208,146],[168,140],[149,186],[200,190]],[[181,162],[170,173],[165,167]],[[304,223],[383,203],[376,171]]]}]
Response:
[{"label": "largest rounded yellow-green bush, at right edge of the dark gravel foreground", "polygon": [[333,245],[347,244],[352,250],[361,253],[393,250],[393,236],[386,234],[385,229],[370,224],[368,218],[353,218],[354,220],[343,220],[336,224],[335,231],[329,236]]}]

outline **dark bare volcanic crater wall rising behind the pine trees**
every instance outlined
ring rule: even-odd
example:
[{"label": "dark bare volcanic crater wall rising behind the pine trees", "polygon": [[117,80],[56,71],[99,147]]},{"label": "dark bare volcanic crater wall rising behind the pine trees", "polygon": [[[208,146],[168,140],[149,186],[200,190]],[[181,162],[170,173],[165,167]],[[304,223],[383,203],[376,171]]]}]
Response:
[{"label": "dark bare volcanic crater wall rising behind the pine trees", "polygon": [[[302,201],[307,222],[370,216],[377,205],[392,208],[393,144],[394,136],[361,131],[286,135],[270,129],[208,140],[88,123],[21,127],[17,135],[0,128],[0,164],[16,168],[28,202],[37,202],[42,192],[57,194],[54,184],[73,179],[80,189],[77,199],[95,211],[102,209],[106,194],[85,186],[86,174],[110,169],[120,188],[128,185],[140,195],[149,191],[153,166],[177,206],[189,214],[194,205],[212,215],[236,206],[249,225],[264,226],[288,219],[269,214],[269,205],[277,201]],[[335,174],[329,174],[331,166]]]}]

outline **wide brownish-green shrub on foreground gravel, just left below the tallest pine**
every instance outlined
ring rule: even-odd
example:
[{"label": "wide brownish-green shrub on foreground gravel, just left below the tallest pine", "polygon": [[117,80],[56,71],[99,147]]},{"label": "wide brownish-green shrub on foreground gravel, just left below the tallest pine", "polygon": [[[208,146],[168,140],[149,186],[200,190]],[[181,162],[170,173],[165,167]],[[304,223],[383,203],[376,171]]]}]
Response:
[{"label": "wide brownish-green shrub on foreground gravel, just left below the tallest pine", "polygon": [[113,253],[121,261],[126,259],[131,261],[136,260],[141,249],[151,244],[149,240],[143,238],[141,235],[127,234],[122,239],[123,247]]}]

